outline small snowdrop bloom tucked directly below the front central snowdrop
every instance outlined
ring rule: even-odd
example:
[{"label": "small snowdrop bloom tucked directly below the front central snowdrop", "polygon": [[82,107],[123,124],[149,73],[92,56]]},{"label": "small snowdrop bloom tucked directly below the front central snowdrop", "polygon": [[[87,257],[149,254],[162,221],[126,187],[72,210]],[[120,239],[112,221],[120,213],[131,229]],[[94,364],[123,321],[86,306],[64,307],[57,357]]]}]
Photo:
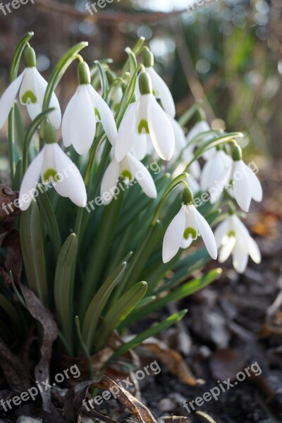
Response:
[{"label": "small snowdrop bloom tucked directly below the front central snowdrop", "polygon": [[157,189],[147,167],[137,160],[133,154],[128,153],[119,162],[113,159],[106,168],[101,184],[101,197],[105,205],[113,200],[119,178],[123,179],[128,185],[139,183],[148,197],[157,197]]}]

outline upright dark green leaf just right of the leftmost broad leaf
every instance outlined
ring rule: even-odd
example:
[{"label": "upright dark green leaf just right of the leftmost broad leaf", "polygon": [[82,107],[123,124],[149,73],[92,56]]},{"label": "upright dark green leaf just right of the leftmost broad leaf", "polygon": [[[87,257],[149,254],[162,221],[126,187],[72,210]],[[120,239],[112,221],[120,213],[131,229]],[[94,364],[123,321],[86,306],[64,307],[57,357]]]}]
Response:
[{"label": "upright dark green leaf just right of the leftmost broad leaf", "polygon": [[75,233],[68,236],[59,253],[54,279],[54,300],[59,325],[71,350],[73,348],[73,278],[71,278],[77,239]]}]

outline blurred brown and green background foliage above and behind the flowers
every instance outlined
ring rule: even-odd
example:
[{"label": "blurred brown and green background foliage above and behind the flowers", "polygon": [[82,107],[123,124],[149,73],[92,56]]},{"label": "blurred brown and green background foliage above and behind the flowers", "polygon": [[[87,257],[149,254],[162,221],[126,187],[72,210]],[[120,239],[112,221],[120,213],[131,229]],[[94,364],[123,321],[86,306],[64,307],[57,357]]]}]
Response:
[{"label": "blurred brown and green background foliage above and behind the flowers", "polygon": [[[28,30],[35,32],[32,47],[45,78],[76,42],[90,42],[83,51],[89,62],[111,57],[117,68],[125,47],[143,36],[171,87],[178,116],[197,99],[213,127],[243,131],[243,147],[281,157],[282,1],[192,1],[114,0],[91,15],[87,0],[35,0],[7,16],[0,12],[0,92],[13,49]],[[57,91],[63,110],[76,84],[73,66]],[[2,171],[5,166],[2,159]]]}]

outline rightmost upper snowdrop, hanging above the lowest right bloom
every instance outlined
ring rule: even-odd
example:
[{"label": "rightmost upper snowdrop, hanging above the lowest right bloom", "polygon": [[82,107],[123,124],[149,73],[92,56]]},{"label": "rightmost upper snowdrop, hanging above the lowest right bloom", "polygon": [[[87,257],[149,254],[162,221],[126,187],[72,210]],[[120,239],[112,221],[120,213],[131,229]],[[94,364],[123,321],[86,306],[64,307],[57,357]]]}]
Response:
[{"label": "rightmost upper snowdrop, hanging above the lowest right bloom", "polygon": [[219,199],[224,188],[230,185],[236,202],[244,212],[249,211],[251,200],[262,201],[262,185],[252,169],[243,162],[238,145],[233,147],[233,161],[219,176],[216,190],[209,190],[212,204]]}]

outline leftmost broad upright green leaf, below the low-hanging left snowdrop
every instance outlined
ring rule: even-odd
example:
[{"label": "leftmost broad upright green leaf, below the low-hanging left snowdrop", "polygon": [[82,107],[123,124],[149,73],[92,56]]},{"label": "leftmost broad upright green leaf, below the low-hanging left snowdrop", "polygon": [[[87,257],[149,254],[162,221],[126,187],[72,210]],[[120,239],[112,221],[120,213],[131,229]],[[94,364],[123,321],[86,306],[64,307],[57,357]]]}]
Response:
[{"label": "leftmost broad upright green leaf, below the low-hanging left snowdrop", "polygon": [[43,305],[48,305],[48,289],[39,208],[36,202],[20,215],[20,244],[29,288]]}]

